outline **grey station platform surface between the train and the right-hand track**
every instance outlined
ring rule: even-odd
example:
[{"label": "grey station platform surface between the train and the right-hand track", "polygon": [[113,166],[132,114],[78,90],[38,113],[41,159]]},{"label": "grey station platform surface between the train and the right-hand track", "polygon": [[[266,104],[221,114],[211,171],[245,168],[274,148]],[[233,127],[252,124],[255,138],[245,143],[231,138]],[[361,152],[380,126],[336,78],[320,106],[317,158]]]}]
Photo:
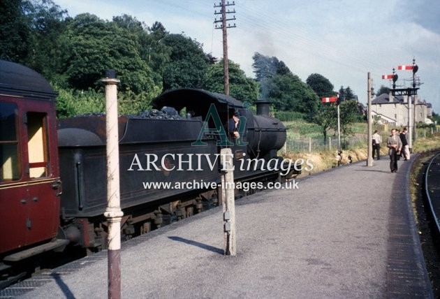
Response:
[{"label": "grey station platform surface between the train and the right-hand track", "polygon": [[[389,163],[237,200],[236,256],[223,255],[221,207],[124,243],[122,298],[432,298],[409,198],[413,159],[397,173]],[[107,267],[102,251],[32,278],[44,283],[20,297],[107,298]]]}]

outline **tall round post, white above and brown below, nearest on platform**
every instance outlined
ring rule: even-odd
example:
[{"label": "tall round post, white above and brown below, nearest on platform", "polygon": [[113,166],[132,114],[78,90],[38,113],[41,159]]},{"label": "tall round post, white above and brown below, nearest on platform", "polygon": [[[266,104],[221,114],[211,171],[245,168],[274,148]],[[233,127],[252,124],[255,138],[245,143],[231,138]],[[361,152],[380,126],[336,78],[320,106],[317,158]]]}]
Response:
[{"label": "tall round post, white above and brown below, nearest on platform", "polygon": [[119,138],[116,72],[105,72],[105,131],[107,136],[108,298],[121,298],[121,210],[119,198]]}]

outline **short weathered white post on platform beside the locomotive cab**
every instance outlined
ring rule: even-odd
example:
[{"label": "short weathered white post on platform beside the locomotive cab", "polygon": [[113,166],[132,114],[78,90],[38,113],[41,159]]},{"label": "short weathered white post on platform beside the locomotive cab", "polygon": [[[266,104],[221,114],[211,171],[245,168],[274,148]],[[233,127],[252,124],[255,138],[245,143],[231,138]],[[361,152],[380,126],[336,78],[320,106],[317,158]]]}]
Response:
[{"label": "short weathered white post on platform beside the locomotive cab", "polygon": [[223,221],[225,233],[225,255],[237,254],[235,236],[235,184],[233,171],[233,154],[230,148],[221,149],[221,203],[223,205]]}]

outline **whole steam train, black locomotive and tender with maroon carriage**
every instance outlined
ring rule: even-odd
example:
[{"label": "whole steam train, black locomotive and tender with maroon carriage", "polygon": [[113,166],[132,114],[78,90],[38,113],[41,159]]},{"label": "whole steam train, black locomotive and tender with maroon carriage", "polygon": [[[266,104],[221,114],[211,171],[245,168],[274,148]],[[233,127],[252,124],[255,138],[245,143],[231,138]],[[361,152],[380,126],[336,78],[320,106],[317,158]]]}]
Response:
[{"label": "whole steam train, black locomotive and tender with maroon carriage", "polygon": [[[42,75],[0,61],[0,286],[20,278],[16,265],[47,251],[105,248],[105,116],[56,119],[56,97]],[[263,167],[283,165],[277,151],[286,140],[265,101],[254,115],[224,94],[175,89],[152,105],[173,108],[176,117],[119,117],[122,238],[217,205],[222,147],[232,149],[236,182],[284,180],[294,171]],[[240,142],[223,126],[234,112]],[[191,188],[173,185],[182,182]]]}]

